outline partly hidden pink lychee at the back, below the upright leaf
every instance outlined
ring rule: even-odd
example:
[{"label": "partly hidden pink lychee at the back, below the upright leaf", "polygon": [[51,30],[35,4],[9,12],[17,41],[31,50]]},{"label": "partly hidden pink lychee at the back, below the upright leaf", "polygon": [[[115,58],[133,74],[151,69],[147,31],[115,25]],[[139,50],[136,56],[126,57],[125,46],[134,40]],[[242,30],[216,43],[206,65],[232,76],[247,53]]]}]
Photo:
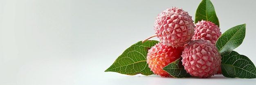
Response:
[{"label": "partly hidden pink lychee at the back, below the upright leaf", "polygon": [[210,40],[211,43],[215,44],[220,35],[220,28],[217,25],[211,21],[202,20],[195,23],[195,35],[192,40]]}]

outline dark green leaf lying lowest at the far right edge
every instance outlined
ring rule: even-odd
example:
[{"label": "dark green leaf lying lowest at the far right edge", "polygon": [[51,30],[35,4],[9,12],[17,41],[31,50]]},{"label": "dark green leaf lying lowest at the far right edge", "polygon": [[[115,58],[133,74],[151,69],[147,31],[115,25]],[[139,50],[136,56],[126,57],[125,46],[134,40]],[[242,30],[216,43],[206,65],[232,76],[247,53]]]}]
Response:
[{"label": "dark green leaf lying lowest at the far right edge", "polygon": [[223,76],[229,78],[256,78],[256,67],[245,55],[231,51],[222,55],[221,71]]}]

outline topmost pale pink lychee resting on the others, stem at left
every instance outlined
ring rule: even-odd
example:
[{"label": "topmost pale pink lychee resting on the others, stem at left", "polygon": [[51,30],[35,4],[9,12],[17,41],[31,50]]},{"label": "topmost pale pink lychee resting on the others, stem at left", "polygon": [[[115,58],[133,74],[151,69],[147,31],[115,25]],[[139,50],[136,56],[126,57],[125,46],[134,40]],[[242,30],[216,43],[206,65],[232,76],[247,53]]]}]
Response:
[{"label": "topmost pale pink lychee resting on the others, stem at left", "polygon": [[172,7],[167,8],[156,17],[155,34],[168,46],[182,47],[194,35],[195,25],[188,12]]}]

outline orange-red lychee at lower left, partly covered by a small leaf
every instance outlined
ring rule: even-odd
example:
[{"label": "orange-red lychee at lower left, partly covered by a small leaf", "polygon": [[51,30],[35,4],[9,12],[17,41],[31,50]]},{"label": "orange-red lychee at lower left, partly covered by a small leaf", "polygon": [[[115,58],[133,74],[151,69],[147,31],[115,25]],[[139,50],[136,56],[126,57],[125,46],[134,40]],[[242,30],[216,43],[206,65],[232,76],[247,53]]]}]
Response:
[{"label": "orange-red lychee at lower left, partly covered by a small leaf", "polygon": [[165,72],[162,68],[179,59],[182,55],[182,51],[183,47],[173,48],[164,43],[157,43],[148,50],[148,67],[155,74],[159,74],[162,77],[168,77],[170,74]]}]

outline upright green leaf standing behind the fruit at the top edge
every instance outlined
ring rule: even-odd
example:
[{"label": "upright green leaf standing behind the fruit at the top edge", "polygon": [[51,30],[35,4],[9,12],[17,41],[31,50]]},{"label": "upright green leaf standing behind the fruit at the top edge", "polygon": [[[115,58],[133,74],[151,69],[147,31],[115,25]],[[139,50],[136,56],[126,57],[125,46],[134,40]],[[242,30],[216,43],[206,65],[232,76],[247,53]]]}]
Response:
[{"label": "upright green leaf standing behind the fruit at the top edge", "polygon": [[210,0],[202,0],[195,12],[195,23],[201,20],[211,21],[220,27],[219,19]]}]

